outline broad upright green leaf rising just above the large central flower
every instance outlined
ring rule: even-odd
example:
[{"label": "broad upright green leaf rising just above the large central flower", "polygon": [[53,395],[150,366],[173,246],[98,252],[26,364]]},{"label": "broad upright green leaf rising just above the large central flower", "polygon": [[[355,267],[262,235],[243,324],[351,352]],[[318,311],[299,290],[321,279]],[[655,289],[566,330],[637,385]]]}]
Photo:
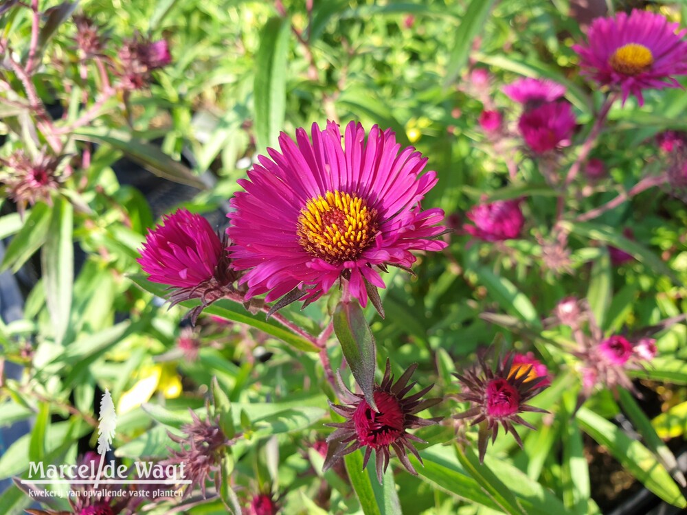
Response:
[{"label": "broad upright green leaf rising just above the large central flower", "polygon": [[275,16],[260,32],[256,56],[255,111],[258,148],[277,146],[279,131],[286,116],[286,51],[289,49],[291,24]]}]

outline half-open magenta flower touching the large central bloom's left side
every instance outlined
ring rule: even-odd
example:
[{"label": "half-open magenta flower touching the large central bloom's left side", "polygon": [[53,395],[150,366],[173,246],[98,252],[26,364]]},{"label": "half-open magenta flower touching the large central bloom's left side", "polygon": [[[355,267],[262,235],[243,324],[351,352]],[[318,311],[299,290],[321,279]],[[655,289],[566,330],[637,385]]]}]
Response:
[{"label": "half-open magenta flower touching the large central bloom's left side", "polygon": [[173,288],[172,306],[201,299],[190,313],[195,323],[203,308],[232,290],[238,277],[229,267],[227,238],[221,240],[205,218],[185,209],[162,220],[146,236],[138,262],[150,281]]}]

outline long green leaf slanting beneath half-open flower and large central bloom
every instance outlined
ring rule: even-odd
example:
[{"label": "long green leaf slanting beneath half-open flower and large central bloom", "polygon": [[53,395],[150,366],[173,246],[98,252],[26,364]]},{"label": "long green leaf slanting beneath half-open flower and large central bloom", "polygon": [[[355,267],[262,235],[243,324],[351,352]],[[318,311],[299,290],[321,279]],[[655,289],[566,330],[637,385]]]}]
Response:
[{"label": "long green leaf slanting beneath half-open flower and large central bloom", "polygon": [[[152,293],[153,295],[157,295],[158,297],[162,298],[168,295],[168,290],[166,290],[165,286],[148,281],[148,278],[144,274],[133,274],[129,275],[128,277],[135,282],[135,284],[140,286],[140,288]],[[197,299],[185,301],[181,302],[181,306],[184,308],[193,308],[194,306],[198,306],[199,302],[200,301]],[[293,332],[282,328],[282,326],[278,325],[278,322],[276,322],[273,318],[269,319],[269,321],[264,321],[264,314],[251,315],[245,310],[245,308],[243,308],[243,306],[240,306],[239,304],[227,299],[221,299],[216,301],[214,304],[210,304],[210,306],[207,306],[203,312],[215,314],[218,317],[223,317],[234,322],[251,325],[262,332],[271,334],[271,336],[275,336],[275,338],[289,343],[289,345],[292,345],[298,350],[302,350],[304,352],[319,352],[319,348],[316,347],[312,342],[304,339],[302,336],[293,334]],[[258,319],[258,317],[260,317],[260,319]]]}]

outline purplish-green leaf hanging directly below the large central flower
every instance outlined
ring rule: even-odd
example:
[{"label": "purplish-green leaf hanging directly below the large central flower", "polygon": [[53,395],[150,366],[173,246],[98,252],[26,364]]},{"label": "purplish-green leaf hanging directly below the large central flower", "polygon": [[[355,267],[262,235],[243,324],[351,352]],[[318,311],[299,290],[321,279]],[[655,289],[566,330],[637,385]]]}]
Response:
[{"label": "purplish-green leaf hanging directly below the large central flower", "polygon": [[374,370],[376,368],[376,347],[372,330],[365,320],[365,314],[357,301],[339,302],[334,311],[334,332],[341,343],[341,351],[350,367],[365,400],[374,411]]}]

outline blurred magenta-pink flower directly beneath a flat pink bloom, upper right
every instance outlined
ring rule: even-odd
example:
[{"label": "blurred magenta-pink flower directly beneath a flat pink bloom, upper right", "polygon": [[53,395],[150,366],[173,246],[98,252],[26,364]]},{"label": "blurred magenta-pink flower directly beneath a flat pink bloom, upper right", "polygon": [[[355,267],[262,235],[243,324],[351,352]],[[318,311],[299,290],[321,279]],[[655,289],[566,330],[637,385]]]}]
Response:
[{"label": "blurred magenta-pink flower directly beneath a flat pink bloom, upper right", "polygon": [[556,147],[570,145],[576,124],[570,104],[552,102],[523,113],[518,129],[532,152],[543,154]]}]

